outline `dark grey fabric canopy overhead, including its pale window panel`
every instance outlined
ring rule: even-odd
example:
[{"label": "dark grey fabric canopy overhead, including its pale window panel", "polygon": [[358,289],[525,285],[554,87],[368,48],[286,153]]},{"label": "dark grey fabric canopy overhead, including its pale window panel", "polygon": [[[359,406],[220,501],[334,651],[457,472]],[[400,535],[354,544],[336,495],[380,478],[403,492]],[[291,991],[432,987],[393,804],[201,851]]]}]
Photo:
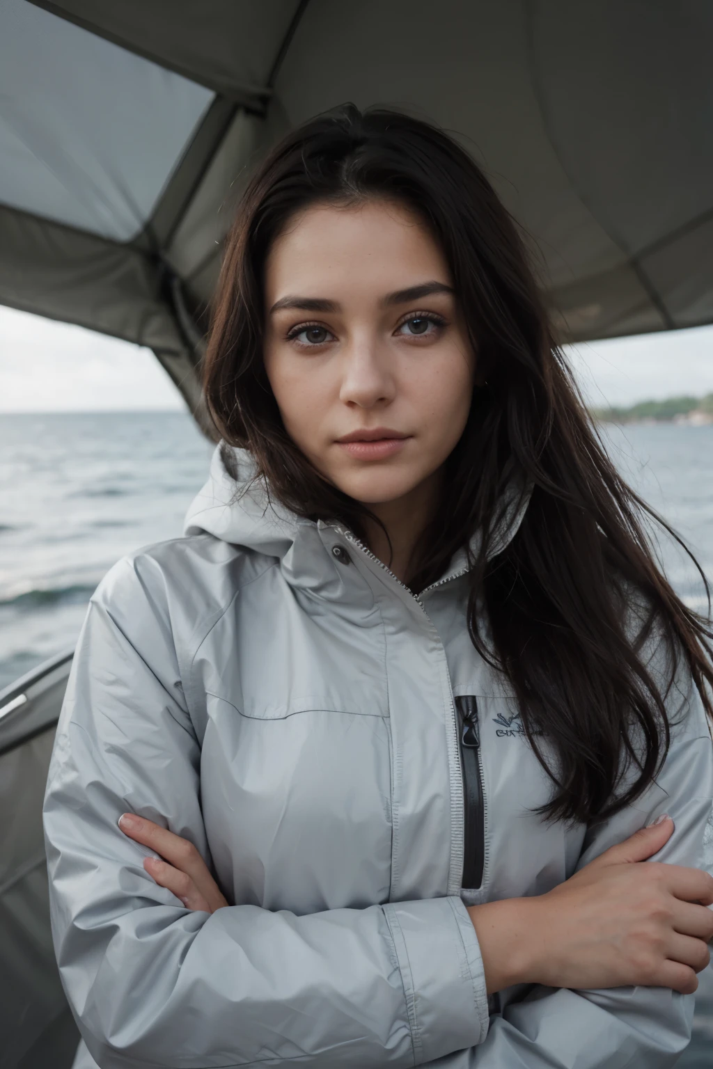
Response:
[{"label": "dark grey fabric canopy overhead, including its pale window panel", "polygon": [[712,34],[706,0],[5,0],[0,301],[150,344],[195,406],[250,166],[354,100],[462,140],[564,340],[709,323]]}]

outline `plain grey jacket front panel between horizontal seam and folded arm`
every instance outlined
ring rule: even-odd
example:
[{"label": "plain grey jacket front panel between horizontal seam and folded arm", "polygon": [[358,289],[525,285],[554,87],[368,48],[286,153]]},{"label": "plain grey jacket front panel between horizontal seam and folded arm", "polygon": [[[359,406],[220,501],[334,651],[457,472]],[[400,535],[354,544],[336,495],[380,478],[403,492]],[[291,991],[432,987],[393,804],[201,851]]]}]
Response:
[{"label": "plain grey jacket front panel between horizontal seam and folded arm", "polygon": [[391,753],[378,704],[323,694],[246,713],[207,700],[203,817],[229,901],[295,913],[387,901]]}]

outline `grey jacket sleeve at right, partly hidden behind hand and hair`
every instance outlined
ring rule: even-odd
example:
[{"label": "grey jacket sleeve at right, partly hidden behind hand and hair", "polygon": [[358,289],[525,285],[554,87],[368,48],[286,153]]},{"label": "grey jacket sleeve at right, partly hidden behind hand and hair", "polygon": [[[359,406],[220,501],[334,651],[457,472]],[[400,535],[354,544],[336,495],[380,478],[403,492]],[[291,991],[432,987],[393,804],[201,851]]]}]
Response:
[{"label": "grey jacket sleeve at right, partly hidden behind hand and hair", "polygon": [[[592,830],[577,869],[667,812],[675,831],[652,861],[710,868],[713,744],[691,677],[669,695],[672,744],[636,805]],[[693,995],[668,988],[570,991],[536,987],[491,1019],[477,1069],[668,1069],[691,1040]]]}]

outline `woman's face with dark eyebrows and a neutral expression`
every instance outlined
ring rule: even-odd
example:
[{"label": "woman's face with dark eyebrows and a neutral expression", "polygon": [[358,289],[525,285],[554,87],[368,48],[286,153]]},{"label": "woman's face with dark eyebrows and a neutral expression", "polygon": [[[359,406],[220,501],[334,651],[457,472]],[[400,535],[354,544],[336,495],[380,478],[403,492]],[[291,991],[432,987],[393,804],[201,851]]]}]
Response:
[{"label": "woman's face with dark eyebrows and a neutral expression", "polygon": [[465,427],[475,356],[443,252],[401,205],[314,205],[265,269],[265,366],[284,427],[339,490],[394,501]]}]

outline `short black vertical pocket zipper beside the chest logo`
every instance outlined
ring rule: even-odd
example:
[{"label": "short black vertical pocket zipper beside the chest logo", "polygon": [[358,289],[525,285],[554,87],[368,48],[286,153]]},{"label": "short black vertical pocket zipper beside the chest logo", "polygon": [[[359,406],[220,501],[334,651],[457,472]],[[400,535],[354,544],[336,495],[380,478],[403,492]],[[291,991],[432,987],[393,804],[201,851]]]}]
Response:
[{"label": "short black vertical pocket zipper beside the chest logo", "polygon": [[461,769],[465,836],[463,845],[463,886],[481,887],[485,867],[485,793],[480,755],[478,701],[466,694],[455,699],[461,727]]}]

